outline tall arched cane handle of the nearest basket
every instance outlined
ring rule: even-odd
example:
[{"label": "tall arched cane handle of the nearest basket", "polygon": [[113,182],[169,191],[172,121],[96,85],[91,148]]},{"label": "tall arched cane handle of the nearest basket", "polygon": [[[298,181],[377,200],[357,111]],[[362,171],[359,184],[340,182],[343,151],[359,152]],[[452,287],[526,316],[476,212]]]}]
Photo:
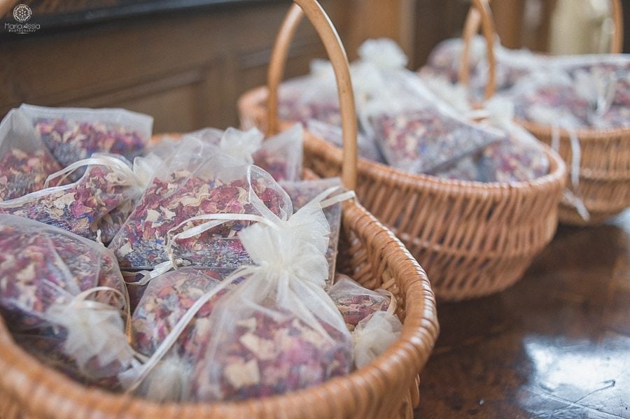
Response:
[{"label": "tall arched cane handle of the nearest basket", "polygon": [[332,69],[335,71],[344,139],[342,180],[345,187],[353,190],[356,188],[357,122],[348,57],[346,57],[346,51],[341,39],[339,39],[337,30],[316,0],[293,0],[293,5],[284,17],[278,36],[276,36],[267,73],[269,91],[267,97],[267,134],[276,134],[279,130],[278,87],[284,75],[290,41],[295,35],[297,25],[302,20],[302,15],[307,15],[315,27],[317,34],[323,41],[326,53],[330,57]]}]

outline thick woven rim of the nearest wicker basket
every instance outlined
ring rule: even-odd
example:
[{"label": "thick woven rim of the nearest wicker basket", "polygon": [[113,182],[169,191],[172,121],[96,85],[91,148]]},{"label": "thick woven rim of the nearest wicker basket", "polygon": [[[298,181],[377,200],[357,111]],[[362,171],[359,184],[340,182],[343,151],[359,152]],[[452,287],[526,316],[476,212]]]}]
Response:
[{"label": "thick woven rim of the nearest wicker basket", "polygon": [[[10,332],[6,327],[3,318],[0,317],[0,353],[8,354],[9,356],[0,358],[0,367],[3,361],[6,365],[3,370],[11,369],[18,370],[22,374],[22,379],[29,382],[29,387],[39,387],[39,392],[45,391],[49,395],[56,395],[55,387],[59,384],[66,387],[64,394],[60,394],[59,397],[65,397],[66,402],[79,402],[80,406],[90,408],[92,411],[98,410],[99,406],[107,406],[109,403],[125,401],[125,406],[134,404],[134,411],[149,411],[155,412],[155,409],[175,409],[181,414],[200,414],[204,416],[202,412],[208,411],[224,411],[225,409],[250,409],[256,411],[257,406],[260,408],[260,404],[267,405],[268,407],[276,406],[279,403],[293,402],[304,403],[309,397],[316,397],[316,394],[322,394],[325,392],[332,392],[335,394],[335,390],[338,392],[339,383],[344,383],[344,389],[352,391],[353,388],[360,388],[361,383],[370,381],[374,377],[381,378],[384,376],[384,371],[390,371],[392,364],[398,364],[398,370],[401,373],[408,372],[409,374],[418,374],[423,367],[423,364],[428,359],[431,349],[435,345],[437,334],[439,332],[439,325],[437,323],[437,315],[435,310],[435,295],[430,287],[430,283],[426,276],[425,271],[416,262],[414,257],[409,251],[402,245],[402,243],[393,235],[391,231],[386,229],[372,214],[370,214],[363,206],[357,204],[354,201],[346,203],[344,205],[344,213],[348,212],[352,217],[365,218],[365,222],[374,225],[380,229],[380,232],[372,236],[372,240],[381,241],[381,248],[385,258],[389,258],[391,262],[402,264],[402,268],[397,270],[405,271],[405,275],[415,275],[416,278],[407,283],[407,291],[405,293],[405,322],[402,326],[402,333],[400,337],[379,357],[372,360],[370,364],[356,369],[345,376],[339,376],[331,378],[318,385],[313,385],[303,390],[297,390],[295,392],[288,392],[284,395],[276,395],[273,397],[266,397],[262,399],[245,399],[238,402],[187,402],[187,403],[158,403],[151,402],[146,399],[134,397],[132,395],[125,395],[115,392],[109,392],[100,388],[90,388],[81,383],[73,381],[73,379],[65,376],[59,371],[46,367],[35,357],[22,350],[20,346],[13,340]],[[381,236],[381,237],[379,237]],[[395,261],[393,260],[395,258]],[[401,275],[402,276],[402,275]],[[409,305],[408,301],[412,299],[419,300],[416,304]],[[414,300],[414,301],[415,301]],[[429,349],[426,351],[424,344],[428,341]],[[3,360],[4,358],[4,360]],[[7,360],[8,358],[8,360]],[[409,369],[409,363],[412,362],[414,369]],[[22,364],[15,367],[15,364]],[[402,365],[402,367],[401,367]],[[28,366],[28,372],[25,372],[25,367]],[[0,379],[1,383],[1,379]],[[45,390],[43,389],[45,388]],[[1,389],[1,387],[0,387]],[[14,398],[20,399],[21,404],[29,404],[32,409],[42,410],[42,406],[37,406],[37,402],[29,402],[29,395],[13,395]],[[37,399],[39,404],[41,397]],[[94,407],[96,406],[96,407]],[[73,404],[73,407],[76,407]],[[45,406],[43,406],[45,409]],[[125,408],[123,408],[123,411]],[[50,411],[49,414],[52,414]],[[123,413],[122,411],[118,414]],[[140,414],[144,417],[146,415]]]}]

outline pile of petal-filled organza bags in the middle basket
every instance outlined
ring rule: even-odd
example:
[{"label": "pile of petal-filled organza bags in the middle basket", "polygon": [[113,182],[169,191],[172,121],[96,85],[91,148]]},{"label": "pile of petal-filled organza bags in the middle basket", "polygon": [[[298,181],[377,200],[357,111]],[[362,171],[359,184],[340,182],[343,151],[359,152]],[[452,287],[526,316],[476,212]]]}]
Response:
[{"label": "pile of petal-filled organza bags in the middle basket", "polygon": [[[472,49],[475,57],[480,55],[478,45]],[[360,156],[408,173],[450,180],[511,183],[547,174],[545,151],[512,124],[512,106],[508,111],[494,105],[483,112],[472,109],[465,91],[450,84],[455,69],[449,63],[446,71],[443,57],[449,53],[439,55],[441,64],[419,77],[405,69],[407,57],[393,41],[377,39],[361,45],[360,59],[351,64],[363,139]],[[510,57],[510,63],[524,66],[528,58]],[[279,112],[285,119],[305,122],[314,134],[339,145],[334,77],[321,62],[314,69],[309,76],[281,85]],[[447,78],[442,81],[435,73]],[[516,78],[506,70],[503,85],[511,85]],[[298,94],[314,89],[316,94]],[[486,121],[479,122],[479,115]]]}]

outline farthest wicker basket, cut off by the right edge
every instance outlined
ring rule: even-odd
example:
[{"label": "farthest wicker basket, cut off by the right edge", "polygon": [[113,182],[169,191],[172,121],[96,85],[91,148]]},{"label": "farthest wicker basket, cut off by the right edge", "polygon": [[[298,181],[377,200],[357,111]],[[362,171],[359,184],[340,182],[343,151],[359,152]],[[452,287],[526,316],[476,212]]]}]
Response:
[{"label": "farthest wicker basket, cut off by the right edge", "polygon": [[[489,0],[483,0],[489,2]],[[615,32],[610,43],[610,52],[617,54],[623,47],[623,12],[619,0],[611,0],[612,20]],[[480,15],[471,8],[463,31],[465,50],[463,62],[470,39],[479,28]],[[483,11],[482,11],[483,13]],[[467,73],[468,66],[462,65],[461,71]],[[462,74],[462,73],[461,73]],[[463,76],[463,79],[468,76]],[[535,122],[517,120],[538,140],[552,145],[552,127]],[[566,129],[559,129],[559,154],[571,166],[573,150],[570,134]],[[571,225],[597,225],[630,206],[630,127],[623,129],[578,129],[575,135],[580,141],[580,180],[577,187],[570,182],[568,187],[582,199],[589,211],[589,220],[584,220],[577,213],[575,206],[566,201],[560,202],[560,221]]]}]

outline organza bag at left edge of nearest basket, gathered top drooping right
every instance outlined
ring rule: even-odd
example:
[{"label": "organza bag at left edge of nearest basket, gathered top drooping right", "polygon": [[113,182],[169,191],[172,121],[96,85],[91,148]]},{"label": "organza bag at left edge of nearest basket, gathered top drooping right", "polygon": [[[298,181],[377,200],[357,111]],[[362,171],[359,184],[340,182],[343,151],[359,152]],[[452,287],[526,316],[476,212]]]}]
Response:
[{"label": "organza bag at left edge of nearest basket, gathered top drooping right", "polygon": [[57,227],[0,215],[0,311],[29,353],[114,390],[134,360],[127,310],[111,251]]}]

